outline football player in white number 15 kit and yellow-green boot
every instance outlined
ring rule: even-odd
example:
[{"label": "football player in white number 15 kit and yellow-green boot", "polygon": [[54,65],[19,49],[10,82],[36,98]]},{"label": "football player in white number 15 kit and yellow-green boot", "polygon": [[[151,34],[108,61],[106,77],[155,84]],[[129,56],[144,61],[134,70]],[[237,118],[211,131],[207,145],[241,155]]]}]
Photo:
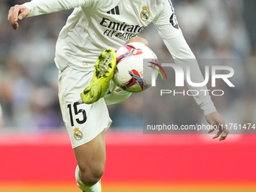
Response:
[{"label": "football player in white number 15 kit and yellow-green boot", "polygon": [[[154,23],[169,53],[184,70],[190,65],[184,59],[195,59],[195,56],[184,40],[170,0],[35,0],[12,7],[8,21],[17,30],[18,20],[25,17],[71,8],[74,11],[56,43],[59,102],[78,162],[75,170],[78,186],[87,192],[98,192],[105,168],[104,134],[111,124],[104,96],[110,93],[107,104],[114,103],[111,98],[121,102],[130,96],[112,84],[116,65],[114,50],[126,41],[146,44],[145,40],[133,37]],[[194,82],[203,82],[197,62],[191,73]],[[195,99],[210,124],[225,124],[208,93]],[[220,136],[224,140],[227,134],[224,126],[214,139]]]}]

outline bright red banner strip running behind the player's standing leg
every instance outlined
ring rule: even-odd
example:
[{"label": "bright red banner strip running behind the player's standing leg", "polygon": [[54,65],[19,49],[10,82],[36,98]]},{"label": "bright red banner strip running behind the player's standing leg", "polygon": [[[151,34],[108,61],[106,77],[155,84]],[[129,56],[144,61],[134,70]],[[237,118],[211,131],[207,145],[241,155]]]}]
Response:
[{"label": "bright red banner strip running behind the player's standing leg", "polygon": [[[256,136],[218,142],[206,135],[108,132],[102,181],[256,182]],[[0,136],[0,182],[74,181],[67,133]]]}]

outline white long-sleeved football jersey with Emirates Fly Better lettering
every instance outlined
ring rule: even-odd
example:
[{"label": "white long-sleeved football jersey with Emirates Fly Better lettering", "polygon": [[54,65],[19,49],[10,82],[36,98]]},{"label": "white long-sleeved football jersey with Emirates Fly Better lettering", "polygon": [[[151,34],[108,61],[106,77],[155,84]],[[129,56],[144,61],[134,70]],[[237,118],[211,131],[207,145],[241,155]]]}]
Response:
[{"label": "white long-sleeved football jersey with Emirates Fly Better lettering", "polygon": [[[182,60],[195,59],[178,26],[171,0],[32,0],[24,5],[30,10],[28,17],[75,8],[56,44],[55,61],[60,71],[67,66],[82,72],[93,71],[99,53],[106,48],[117,50],[149,23],[154,23],[184,71],[190,63]],[[192,80],[203,82],[197,61],[193,65]],[[190,89],[208,90],[207,87]],[[216,111],[208,93],[194,98],[205,114]]]}]

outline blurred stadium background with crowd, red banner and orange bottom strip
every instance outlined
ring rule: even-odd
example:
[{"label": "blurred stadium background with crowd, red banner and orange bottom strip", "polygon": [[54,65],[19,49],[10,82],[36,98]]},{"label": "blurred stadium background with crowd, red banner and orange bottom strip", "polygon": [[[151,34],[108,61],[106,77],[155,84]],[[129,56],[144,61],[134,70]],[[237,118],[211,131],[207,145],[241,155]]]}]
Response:
[{"label": "blurred stadium background with crowd, red banner and orange bottom strip", "polygon": [[[53,62],[56,38],[72,11],[22,20],[14,31],[8,9],[24,2],[0,0],[0,191],[80,191]],[[244,61],[236,66],[236,91],[223,87],[225,96],[212,99],[227,122],[256,123],[256,2],[172,3],[198,59]],[[171,59],[153,25],[140,36],[159,58]],[[174,123],[203,122],[193,98],[175,104],[164,104]],[[181,104],[190,108],[179,108]],[[106,134],[104,191],[256,190],[253,132],[231,135],[225,142],[208,135],[143,135],[142,93],[109,106],[109,111],[113,124]]]}]

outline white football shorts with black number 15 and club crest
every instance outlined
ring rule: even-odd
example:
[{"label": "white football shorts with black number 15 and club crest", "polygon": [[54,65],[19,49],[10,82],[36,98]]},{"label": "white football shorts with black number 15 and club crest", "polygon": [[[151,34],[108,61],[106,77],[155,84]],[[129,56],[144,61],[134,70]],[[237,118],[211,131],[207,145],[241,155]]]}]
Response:
[{"label": "white football shorts with black number 15 and club crest", "polygon": [[59,104],[72,148],[90,142],[112,123],[103,98],[90,105],[81,100],[80,94],[92,77],[93,72],[80,72],[71,67],[59,72]]}]

